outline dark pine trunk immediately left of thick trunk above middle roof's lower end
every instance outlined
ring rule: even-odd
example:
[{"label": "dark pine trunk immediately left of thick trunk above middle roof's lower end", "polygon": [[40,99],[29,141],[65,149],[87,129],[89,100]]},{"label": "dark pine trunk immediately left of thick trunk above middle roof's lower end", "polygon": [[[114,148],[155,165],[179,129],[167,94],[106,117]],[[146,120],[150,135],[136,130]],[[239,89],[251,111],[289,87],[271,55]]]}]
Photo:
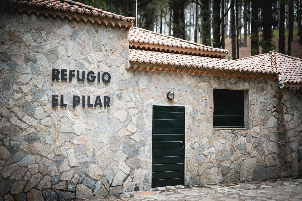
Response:
[{"label": "dark pine trunk immediately left of thick trunk above middle roof's lower end", "polygon": [[211,21],[210,21],[210,6],[209,0],[202,0],[204,9],[202,12],[202,44],[206,46],[211,46],[209,39],[211,38]]}]

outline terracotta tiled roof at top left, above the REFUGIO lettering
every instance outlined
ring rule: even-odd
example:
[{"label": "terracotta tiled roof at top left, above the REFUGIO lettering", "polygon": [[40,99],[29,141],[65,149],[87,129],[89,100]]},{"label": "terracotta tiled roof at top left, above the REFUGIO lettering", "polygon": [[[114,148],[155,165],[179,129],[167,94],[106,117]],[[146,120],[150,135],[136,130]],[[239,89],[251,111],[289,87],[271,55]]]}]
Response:
[{"label": "terracotta tiled roof at top left, above the REFUGIO lettering", "polygon": [[50,12],[59,11],[62,13],[80,14],[110,20],[118,20],[127,23],[133,23],[133,20],[135,20],[135,17],[117,15],[71,0],[0,0],[0,4],[7,4],[10,6],[19,5],[23,10],[26,10],[26,8],[39,7],[40,10],[48,10]]}]

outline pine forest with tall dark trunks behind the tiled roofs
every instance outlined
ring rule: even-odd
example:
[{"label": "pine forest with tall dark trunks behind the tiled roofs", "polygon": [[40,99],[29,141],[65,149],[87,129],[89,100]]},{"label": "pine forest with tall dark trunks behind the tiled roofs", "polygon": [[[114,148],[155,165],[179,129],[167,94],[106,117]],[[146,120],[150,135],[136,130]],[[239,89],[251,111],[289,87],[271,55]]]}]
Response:
[{"label": "pine forest with tall dark trunks behind the tiled roofs", "polygon": [[[136,17],[136,0],[80,0]],[[134,26],[228,49],[227,59],[276,50],[302,58],[302,0],[137,0]]]}]

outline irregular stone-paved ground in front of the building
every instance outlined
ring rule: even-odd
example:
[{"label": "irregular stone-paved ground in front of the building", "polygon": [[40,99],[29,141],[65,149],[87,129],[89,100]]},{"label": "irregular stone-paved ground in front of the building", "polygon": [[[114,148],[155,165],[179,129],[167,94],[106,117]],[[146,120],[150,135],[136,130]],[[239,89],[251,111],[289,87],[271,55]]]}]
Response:
[{"label": "irregular stone-paved ground in front of the building", "polygon": [[[83,199],[82,199],[83,200]],[[302,177],[200,186],[158,187],[149,191],[109,195],[85,201],[302,201]]]}]

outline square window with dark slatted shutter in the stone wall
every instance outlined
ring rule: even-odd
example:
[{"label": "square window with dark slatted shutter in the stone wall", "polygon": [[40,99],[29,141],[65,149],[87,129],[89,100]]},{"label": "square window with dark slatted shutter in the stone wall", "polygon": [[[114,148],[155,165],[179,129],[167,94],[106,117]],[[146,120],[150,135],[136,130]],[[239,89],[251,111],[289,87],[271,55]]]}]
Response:
[{"label": "square window with dark slatted shutter in the stone wall", "polygon": [[244,90],[214,89],[214,128],[244,128]]}]

